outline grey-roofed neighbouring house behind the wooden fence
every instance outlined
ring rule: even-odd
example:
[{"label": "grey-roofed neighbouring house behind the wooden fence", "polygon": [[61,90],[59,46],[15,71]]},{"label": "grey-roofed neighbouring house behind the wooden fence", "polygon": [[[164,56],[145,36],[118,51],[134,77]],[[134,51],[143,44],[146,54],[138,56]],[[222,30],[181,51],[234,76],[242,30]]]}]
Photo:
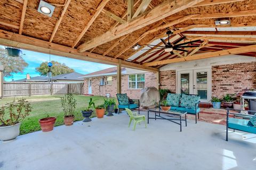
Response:
[{"label": "grey-roofed neighbouring house behind the wooden fence", "polygon": [[[53,82],[84,82],[83,78],[79,78],[84,74],[71,72],[66,74],[60,74],[52,77]],[[36,76],[30,77],[29,74],[26,75],[26,79],[15,80],[15,82],[47,82],[46,76]]]}]

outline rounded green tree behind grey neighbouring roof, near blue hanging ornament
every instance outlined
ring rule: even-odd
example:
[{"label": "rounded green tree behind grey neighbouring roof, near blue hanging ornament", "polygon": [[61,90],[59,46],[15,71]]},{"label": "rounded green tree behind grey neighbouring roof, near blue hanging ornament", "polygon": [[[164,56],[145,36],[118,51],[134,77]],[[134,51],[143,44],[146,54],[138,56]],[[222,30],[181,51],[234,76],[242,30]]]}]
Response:
[{"label": "rounded green tree behind grey neighbouring roof, near blue hanging ornament", "polygon": [[[73,69],[70,69],[64,63],[62,64],[55,61],[51,61],[51,63],[52,63],[52,67],[51,67],[52,76],[74,72]],[[36,67],[36,71],[39,72],[40,75],[47,75],[49,71],[48,62],[41,63],[39,67]]]}]

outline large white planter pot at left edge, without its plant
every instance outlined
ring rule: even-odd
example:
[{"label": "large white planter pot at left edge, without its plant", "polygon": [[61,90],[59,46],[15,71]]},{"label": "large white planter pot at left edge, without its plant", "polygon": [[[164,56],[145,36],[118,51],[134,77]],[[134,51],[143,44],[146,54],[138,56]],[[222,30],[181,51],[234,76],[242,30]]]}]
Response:
[{"label": "large white planter pot at left edge, without its plant", "polygon": [[15,140],[20,134],[20,124],[21,123],[11,126],[0,126],[0,140],[3,142]]}]

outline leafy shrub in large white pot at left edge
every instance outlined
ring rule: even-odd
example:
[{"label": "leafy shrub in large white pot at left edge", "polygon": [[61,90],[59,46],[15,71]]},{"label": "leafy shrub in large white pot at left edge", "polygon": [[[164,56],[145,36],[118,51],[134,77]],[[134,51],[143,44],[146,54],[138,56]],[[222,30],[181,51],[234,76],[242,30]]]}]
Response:
[{"label": "leafy shrub in large white pot at left edge", "polygon": [[9,142],[20,134],[22,120],[31,112],[31,105],[26,99],[13,101],[0,108],[0,140]]}]

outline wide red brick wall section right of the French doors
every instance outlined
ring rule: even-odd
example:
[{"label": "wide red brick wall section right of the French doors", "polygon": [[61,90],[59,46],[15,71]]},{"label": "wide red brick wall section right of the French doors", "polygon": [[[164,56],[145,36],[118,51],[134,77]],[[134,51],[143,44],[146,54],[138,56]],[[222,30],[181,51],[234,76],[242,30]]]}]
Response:
[{"label": "wide red brick wall section right of the French doors", "polygon": [[212,66],[212,96],[256,88],[256,62]]}]

